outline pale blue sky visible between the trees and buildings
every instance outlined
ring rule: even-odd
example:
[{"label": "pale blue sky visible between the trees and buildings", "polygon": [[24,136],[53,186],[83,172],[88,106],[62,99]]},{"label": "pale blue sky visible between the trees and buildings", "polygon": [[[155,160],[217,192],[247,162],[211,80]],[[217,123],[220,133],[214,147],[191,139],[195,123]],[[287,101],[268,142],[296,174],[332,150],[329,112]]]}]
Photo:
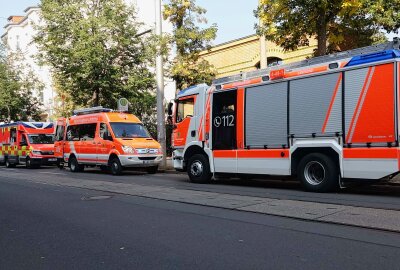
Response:
[{"label": "pale blue sky visible between the trees and buildings", "polygon": [[[154,1],[154,0],[147,0]],[[0,0],[0,35],[10,15],[24,15],[24,10],[35,6],[39,0]],[[196,3],[207,9],[208,22],[218,25],[214,44],[220,44],[255,33],[256,19],[253,10],[258,0],[197,0]]]}]

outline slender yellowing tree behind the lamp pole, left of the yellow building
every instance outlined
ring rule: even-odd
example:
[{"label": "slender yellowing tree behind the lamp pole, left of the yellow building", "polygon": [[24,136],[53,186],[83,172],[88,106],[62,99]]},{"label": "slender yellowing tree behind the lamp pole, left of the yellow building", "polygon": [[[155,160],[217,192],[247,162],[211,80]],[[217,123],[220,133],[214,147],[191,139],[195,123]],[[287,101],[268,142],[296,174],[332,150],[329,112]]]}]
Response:
[{"label": "slender yellowing tree behind the lamp pole, left of the yellow building", "polygon": [[206,28],[196,24],[207,23],[205,13],[206,10],[197,6],[195,0],[170,0],[164,5],[164,19],[173,26],[171,42],[177,55],[170,72],[178,89],[210,83],[216,75],[214,67],[200,57],[200,52],[210,48],[217,33],[216,24]]}]

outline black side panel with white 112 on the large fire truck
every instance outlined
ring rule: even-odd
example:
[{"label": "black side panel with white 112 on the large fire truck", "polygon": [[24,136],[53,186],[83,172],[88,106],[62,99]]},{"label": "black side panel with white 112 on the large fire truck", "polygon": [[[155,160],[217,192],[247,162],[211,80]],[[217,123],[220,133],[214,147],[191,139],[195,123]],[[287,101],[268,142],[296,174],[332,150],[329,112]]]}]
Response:
[{"label": "black side panel with white 112 on the large fire truck", "polygon": [[213,149],[236,149],[236,95],[237,91],[215,93],[213,96]]}]

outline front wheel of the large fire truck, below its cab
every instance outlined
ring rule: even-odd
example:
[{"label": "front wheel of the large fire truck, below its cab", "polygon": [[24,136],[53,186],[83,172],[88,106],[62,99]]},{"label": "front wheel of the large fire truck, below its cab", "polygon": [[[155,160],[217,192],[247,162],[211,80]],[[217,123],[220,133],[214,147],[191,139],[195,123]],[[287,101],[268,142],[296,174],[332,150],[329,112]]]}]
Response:
[{"label": "front wheel of the large fire truck, below its cab", "polygon": [[211,180],[210,165],[206,156],[197,154],[189,159],[187,172],[193,183],[204,184]]}]

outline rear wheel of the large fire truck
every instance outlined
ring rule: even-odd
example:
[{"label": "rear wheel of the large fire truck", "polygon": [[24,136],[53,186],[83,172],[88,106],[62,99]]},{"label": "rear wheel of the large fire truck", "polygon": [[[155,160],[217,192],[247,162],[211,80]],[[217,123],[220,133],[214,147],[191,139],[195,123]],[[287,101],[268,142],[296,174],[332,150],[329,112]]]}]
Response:
[{"label": "rear wheel of the large fire truck", "polygon": [[308,191],[330,192],[339,188],[339,168],[327,155],[308,154],[300,161],[297,172]]}]

